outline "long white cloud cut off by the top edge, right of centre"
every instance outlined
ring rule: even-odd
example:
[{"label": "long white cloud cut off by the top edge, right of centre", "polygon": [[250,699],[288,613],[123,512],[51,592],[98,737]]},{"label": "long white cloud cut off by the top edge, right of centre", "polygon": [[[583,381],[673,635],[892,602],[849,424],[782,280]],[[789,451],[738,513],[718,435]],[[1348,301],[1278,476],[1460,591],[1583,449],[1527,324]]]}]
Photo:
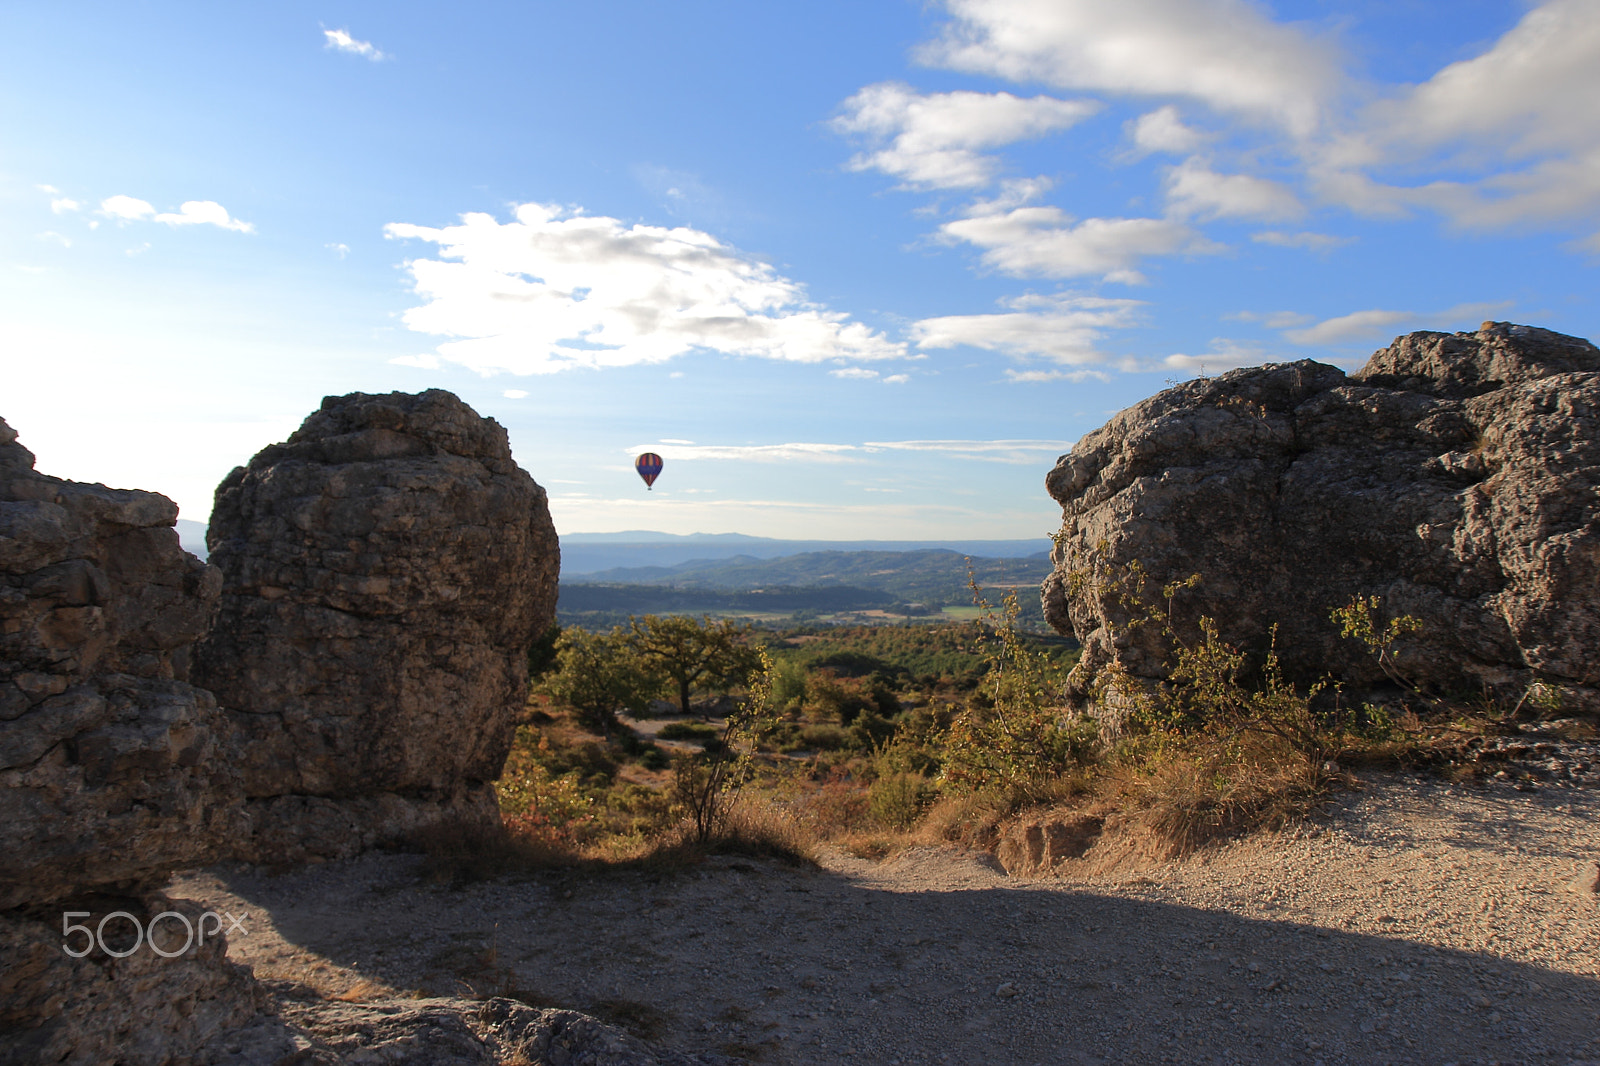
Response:
[{"label": "long white cloud cut off by the top edge, right of centre", "polygon": [[1245,0],[947,0],[926,62],[1059,88],[1187,96],[1312,133],[1333,53]]}]

